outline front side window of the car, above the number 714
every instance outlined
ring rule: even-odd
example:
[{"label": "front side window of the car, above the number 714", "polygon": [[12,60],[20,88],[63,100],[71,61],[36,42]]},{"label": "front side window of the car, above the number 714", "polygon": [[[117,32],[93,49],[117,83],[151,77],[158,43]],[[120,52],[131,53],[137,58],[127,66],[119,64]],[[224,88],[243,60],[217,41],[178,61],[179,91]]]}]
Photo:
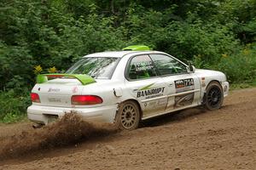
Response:
[{"label": "front side window of the car, above the number 714", "polygon": [[163,54],[150,54],[151,59],[154,61],[154,65],[160,72],[160,75],[170,74],[182,74],[186,73],[186,65],[183,65],[176,59]]}]

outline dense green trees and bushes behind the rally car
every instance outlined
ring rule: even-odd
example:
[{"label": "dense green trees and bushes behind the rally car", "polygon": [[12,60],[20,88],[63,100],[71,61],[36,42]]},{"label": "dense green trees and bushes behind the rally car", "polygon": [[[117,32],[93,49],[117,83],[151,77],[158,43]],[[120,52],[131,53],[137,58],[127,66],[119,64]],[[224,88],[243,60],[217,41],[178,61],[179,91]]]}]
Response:
[{"label": "dense green trees and bushes behind the rally car", "polygon": [[11,0],[0,9],[0,122],[24,117],[37,74],[134,44],[256,84],[255,0]]}]

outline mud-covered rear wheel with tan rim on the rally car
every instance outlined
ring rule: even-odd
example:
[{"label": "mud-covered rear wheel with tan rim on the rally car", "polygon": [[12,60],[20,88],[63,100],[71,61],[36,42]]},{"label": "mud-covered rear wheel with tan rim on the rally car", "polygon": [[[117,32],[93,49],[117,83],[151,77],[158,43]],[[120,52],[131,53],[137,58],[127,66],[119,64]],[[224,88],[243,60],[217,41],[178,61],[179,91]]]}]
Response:
[{"label": "mud-covered rear wheel with tan rim on the rally car", "polygon": [[133,130],[140,122],[140,109],[136,102],[128,100],[119,105],[116,115],[116,126],[122,130]]}]

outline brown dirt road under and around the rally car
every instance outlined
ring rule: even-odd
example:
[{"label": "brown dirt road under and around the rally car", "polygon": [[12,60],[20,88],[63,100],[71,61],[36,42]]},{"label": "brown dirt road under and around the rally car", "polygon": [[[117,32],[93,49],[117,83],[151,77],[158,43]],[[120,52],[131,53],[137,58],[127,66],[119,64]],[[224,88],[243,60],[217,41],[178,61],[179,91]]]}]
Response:
[{"label": "brown dirt road under and around the rally car", "polygon": [[[29,145],[24,144],[29,136],[24,132],[31,132],[30,126],[30,123],[0,126],[0,148],[6,139],[17,140],[14,134],[23,134],[14,144],[21,144],[21,148]],[[95,129],[90,133],[94,132]],[[37,141],[37,135],[33,135],[31,142]],[[26,154],[17,152],[15,158],[2,158],[0,169],[254,170],[256,88],[231,91],[218,111],[189,109],[143,122],[143,127],[132,132],[104,131],[90,138],[84,135],[88,133],[80,135],[83,139],[75,144],[61,147],[53,144],[48,149],[34,147]]]}]

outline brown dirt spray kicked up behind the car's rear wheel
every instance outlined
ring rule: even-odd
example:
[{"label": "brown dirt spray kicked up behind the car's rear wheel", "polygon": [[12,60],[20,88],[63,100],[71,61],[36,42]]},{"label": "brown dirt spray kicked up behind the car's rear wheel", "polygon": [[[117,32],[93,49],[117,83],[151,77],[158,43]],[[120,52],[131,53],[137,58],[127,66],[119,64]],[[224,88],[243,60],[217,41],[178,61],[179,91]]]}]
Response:
[{"label": "brown dirt spray kicked up behind the car's rear wheel", "polygon": [[39,129],[20,130],[0,140],[0,160],[28,152],[76,144],[84,140],[108,136],[118,129],[113,124],[85,122],[76,113],[67,113],[58,122]]}]

